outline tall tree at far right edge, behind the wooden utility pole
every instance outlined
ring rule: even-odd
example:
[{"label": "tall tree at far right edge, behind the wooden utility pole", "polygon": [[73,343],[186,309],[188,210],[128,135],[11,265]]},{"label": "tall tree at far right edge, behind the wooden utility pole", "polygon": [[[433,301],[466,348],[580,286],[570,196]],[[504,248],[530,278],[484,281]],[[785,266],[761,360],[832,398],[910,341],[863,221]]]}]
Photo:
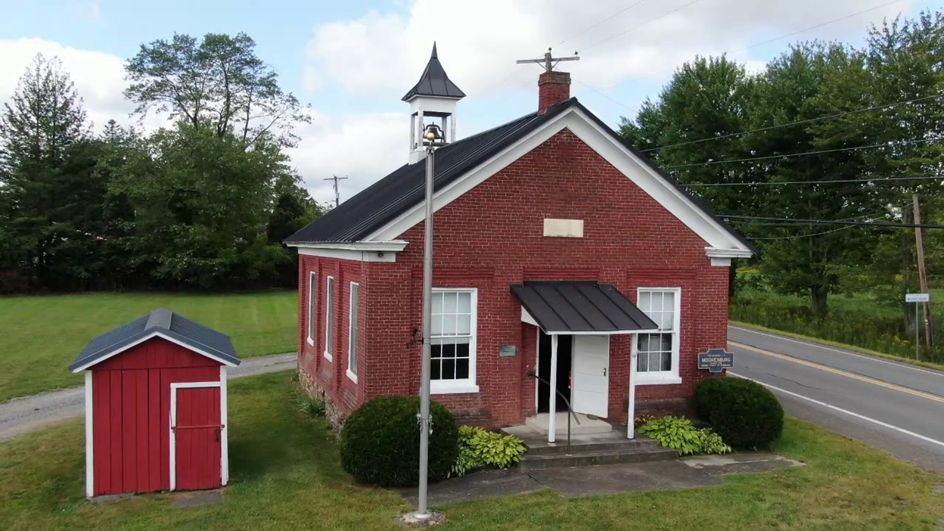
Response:
[{"label": "tall tree at far right edge, behind the wooden utility pole", "polygon": [[[877,131],[882,142],[919,141],[899,144],[894,156],[876,154],[872,163],[891,178],[925,178],[941,174],[944,165],[944,14],[921,12],[913,20],[895,19],[872,26],[867,44],[872,94],[882,111],[863,116],[863,126]],[[917,100],[917,101],[913,101]],[[907,104],[897,104],[912,101]],[[902,219],[913,219],[912,195],[921,198],[921,221],[944,221],[944,193],[937,180],[902,180],[889,186],[891,202]],[[944,272],[944,233],[924,231],[929,277]],[[860,278],[864,288],[880,300],[898,306],[914,330],[914,311],[904,294],[919,288],[915,235],[911,230],[889,231],[875,248],[874,260]]]}]

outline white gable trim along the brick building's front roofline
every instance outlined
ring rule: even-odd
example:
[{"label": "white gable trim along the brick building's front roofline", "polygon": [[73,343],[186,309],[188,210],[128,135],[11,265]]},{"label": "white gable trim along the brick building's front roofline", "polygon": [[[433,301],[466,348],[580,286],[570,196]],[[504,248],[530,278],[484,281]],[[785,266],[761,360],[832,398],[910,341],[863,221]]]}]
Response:
[{"label": "white gable trim along the brick building's front roofline", "polygon": [[[643,162],[641,158],[623,146],[608,131],[600,128],[594,120],[579,108],[572,107],[548,121],[541,128],[531,131],[524,138],[509,145],[496,156],[480,163],[463,177],[450,182],[433,197],[433,210],[438,211],[482,181],[495,175],[514,161],[548,141],[563,129],[569,129],[587,146],[596,151],[605,161],[632,180],[649,197],[663,205],[685,226],[705,241],[707,248],[724,249],[738,256],[750,256],[753,252],[734,234],[718,223],[711,215],[702,211],[690,198],[670,184],[659,172]],[[398,215],[379,230],[372,232],[365,241],[390,241],[410,230],[423,219],[424,208],[420,202],[410,210]],[[732,255],[728,255],[732,256]]]}]

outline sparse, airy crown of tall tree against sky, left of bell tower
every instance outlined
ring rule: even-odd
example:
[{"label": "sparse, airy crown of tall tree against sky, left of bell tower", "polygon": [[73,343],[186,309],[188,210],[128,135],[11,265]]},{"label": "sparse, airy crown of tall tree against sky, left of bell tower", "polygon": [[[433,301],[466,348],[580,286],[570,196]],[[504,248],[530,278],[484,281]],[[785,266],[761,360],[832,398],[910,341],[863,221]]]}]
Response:
[{"label": "sparse, airy crown of tall tree against sky, left of bell tower", "polygon": [[125,91],[135,111],[169,111],[193,128],[211,128],[217,137],[235,134],[244,146],[265,136],[295,146],[293,127],[309,122],[293,94],[278,86],[278,74],[255,53],[246,34],[208,33],[202,41],[175,34],[142,44],[126,62],[131,85]]}]

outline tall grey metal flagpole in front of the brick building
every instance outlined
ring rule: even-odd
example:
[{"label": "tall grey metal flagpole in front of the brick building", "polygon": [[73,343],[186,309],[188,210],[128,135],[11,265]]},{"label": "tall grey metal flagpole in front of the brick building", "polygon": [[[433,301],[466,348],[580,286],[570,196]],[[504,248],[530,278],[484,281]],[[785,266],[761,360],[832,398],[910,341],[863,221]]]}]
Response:
[{"label": "tall grey metal flagpole in front of the brick building", "polygon": [[436,148],[445,146],[446,135],[435,124],[426,126],[426,225],[423,242],[423,357],[419,387],[419,503],[413,517],[426,521],[432,517],[427,508],[430,482],[430,351],[432,349],[432,193]]}]

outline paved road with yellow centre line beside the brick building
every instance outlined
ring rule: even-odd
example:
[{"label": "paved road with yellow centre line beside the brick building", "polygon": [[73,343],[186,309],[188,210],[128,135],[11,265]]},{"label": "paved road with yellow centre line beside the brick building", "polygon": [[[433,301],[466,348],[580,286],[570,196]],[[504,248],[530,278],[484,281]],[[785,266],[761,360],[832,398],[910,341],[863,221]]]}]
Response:
[{"label": "paved road with yellow centre line beside the brick building", "polygon": [[729,326],[732,375],[784,410],[944,473],[944,372]]}]

